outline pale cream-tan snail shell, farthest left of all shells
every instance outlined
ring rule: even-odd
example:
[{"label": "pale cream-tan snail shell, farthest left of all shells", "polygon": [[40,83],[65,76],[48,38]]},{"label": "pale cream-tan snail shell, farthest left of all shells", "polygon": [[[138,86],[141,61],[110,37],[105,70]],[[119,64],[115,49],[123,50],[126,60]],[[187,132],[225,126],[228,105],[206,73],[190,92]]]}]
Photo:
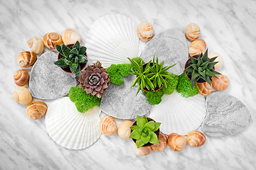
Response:
[{"label": "pale cream-tan snail shell, farthest left of all shells", "polygon": [[30,91],[23,86],[17,87],[11,97],[14,98],[14,101],[17,101],[22,105],[28,105],[32,101]]}]

